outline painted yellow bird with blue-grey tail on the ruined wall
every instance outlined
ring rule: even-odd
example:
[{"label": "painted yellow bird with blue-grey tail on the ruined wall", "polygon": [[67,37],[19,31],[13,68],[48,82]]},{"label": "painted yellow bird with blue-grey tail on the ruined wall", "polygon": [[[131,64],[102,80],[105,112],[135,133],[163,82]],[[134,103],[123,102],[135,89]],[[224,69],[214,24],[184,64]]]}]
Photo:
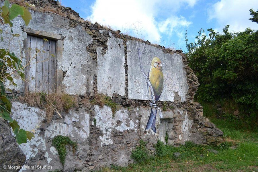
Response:
[{"label": "painted yellow bird with blue-grey tail on the ruined wall", "polygon": [[[152,85],[156,101],[159,100],[159,97],[161,96],[161,93],[163,90],[164,76],[162,72],[162,66],[163,65],[161,64],[161,60],[158,57],[154,57],[151,61],[151,67],[148,73],[148,78]],[[151,93],[148,85],[147,85],[147,89],[150,95]],[[155,111],[155,114],[154,114],[153,110],[151,109],[150,117],[147,122],[145,130],[148,130],[151,127],[151,129],[156,133],[156,126],[155,126],[156,115],[157,115],[157,111]]]}]

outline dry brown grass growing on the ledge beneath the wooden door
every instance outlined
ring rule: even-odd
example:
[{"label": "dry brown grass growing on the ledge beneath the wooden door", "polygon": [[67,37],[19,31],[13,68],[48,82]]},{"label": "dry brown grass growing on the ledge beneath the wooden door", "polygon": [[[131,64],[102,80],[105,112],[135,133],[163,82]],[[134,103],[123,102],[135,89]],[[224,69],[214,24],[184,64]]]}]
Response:
[{"label": "dry brown grass growing on the ledge beneath the wooden door", "polygon": [[[78,107],[79,96],[67,94],[46,94],[26,93],[19,97],[19,101],[30,106],[37,106],[46,109],[47,122],[51,122],[54,112],[68,112],[71,108]],[[56,109],[56,110],[55,110]]]}]

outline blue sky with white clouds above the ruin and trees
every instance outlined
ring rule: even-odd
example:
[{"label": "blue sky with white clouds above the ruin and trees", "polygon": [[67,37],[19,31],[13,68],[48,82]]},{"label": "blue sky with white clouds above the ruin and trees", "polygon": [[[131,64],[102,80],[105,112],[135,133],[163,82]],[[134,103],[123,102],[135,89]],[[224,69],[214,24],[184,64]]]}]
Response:
[{"label": "blue sky with white clouds above the ruin and trees", "polygon": [[231,32],[245,28],[258,30],[249,20],[249,9],[258,9],[258,0],[61,0],[80,17],[96,21],[123,34],[148,40],[166,48],[185,48],[187,39],[194,42],[197,32],[213,28]]}]

